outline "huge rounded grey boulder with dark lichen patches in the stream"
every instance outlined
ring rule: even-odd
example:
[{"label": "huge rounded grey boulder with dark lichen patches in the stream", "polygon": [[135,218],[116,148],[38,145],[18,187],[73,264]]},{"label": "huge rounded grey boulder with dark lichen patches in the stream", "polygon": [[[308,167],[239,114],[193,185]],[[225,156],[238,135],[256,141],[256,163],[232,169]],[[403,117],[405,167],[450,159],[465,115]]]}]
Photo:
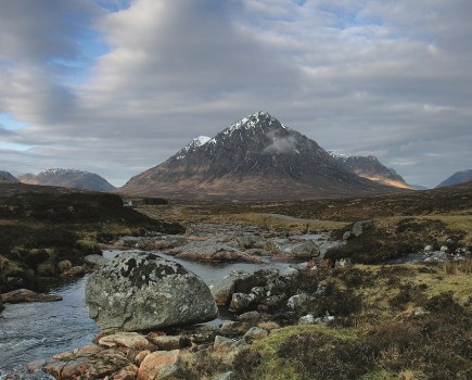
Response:
[{"label": "huge rounded grey boulder with dark lichen patches in the stream", "polygon": [[89,277],[89,316],[105,331],[191,325],[217,317],[206,283],[180,264],[152,253],[128,252]]}]

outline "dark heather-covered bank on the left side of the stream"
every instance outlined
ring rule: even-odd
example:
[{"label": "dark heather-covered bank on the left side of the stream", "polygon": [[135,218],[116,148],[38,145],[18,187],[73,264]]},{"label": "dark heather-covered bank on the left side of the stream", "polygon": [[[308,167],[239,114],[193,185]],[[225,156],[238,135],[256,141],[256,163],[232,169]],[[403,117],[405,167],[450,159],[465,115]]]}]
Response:
[{"label": "dark heather-covered bank on the left side of the stream", "polygon": [[62,262],[84,264],[100,243],[146,230],[183,232],[178,224],[124,207],[118,195],[71,189],[0,187],[0,292],[40,289],[64,271]]}]

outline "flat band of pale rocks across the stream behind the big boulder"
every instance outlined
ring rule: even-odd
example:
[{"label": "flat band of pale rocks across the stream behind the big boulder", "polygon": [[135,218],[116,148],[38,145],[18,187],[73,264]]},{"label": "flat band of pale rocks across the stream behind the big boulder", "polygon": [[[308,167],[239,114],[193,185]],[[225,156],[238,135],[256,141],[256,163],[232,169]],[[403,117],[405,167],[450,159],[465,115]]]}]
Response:
[{"label": "flat band of pale rocks across the stream behind the big boulder", "polygon": [[343,242],[324,235],[288,235],[260,228],[205,224],[189,228],[186,236],[152,235],[123,237],[118,246],[161,250],[179,258],[218,262],[261,263],[279,259],[322,259],[326,252]]}]

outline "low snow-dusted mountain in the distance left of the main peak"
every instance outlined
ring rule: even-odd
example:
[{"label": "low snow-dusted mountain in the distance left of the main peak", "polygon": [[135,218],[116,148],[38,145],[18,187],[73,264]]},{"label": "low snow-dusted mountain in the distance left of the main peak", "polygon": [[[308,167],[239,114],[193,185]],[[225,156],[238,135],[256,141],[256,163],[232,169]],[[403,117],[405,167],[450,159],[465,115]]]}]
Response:
[{"label": "low snow-dusted mountain in the distance left of the main peak", "polygon": [[29,185],[60,186],[64,188],[109,191],[115,187],[94,173],[77,169],[50,168],[34,175],[31,173],[18,176],[20,181]]}]

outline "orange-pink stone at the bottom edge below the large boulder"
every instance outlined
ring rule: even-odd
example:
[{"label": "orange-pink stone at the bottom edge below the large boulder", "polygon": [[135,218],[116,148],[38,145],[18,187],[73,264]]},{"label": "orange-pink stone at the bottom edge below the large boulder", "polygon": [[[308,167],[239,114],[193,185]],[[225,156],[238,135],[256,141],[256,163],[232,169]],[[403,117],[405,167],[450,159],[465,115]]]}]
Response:
[{"label": "orange-pink stone at the bottom edge below the large boulder", "polygon": [[168,379],[178,369],[179,350],[156,351],[142,360],[138,370],[139,380]]}]

